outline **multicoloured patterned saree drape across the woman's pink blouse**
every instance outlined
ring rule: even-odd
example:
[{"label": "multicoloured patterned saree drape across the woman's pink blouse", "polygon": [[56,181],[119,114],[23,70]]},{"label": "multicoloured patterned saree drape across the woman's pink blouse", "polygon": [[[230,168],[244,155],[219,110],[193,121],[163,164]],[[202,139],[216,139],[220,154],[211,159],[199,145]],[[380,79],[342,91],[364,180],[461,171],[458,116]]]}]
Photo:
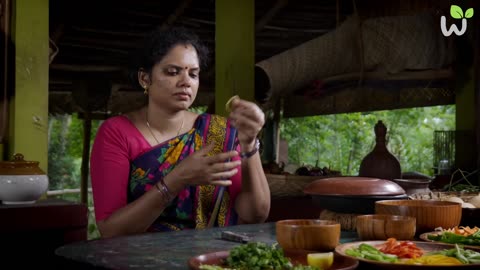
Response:
[{"label": "multicoloured patterned saree drape across the woman's pink blouse", "polygon": [[[199,115],[190,131],[154,146],[131,162],[128,201],[132,202],[152,187],[155,188],[154,185],[160,179],[204,145],[214,143],[209,155],[233,149],[236,145],[235,134],[235,129],[226,118],[210,114]],[[168,204],[149,231],[203,229],[207,227],[210,218],[216,219],[215,226],[236,224],[234,202],[240,189],[239,181],[232,181],[232,186],[223,192],[216,217],[211,214],[220,187],[187,186]]]}]

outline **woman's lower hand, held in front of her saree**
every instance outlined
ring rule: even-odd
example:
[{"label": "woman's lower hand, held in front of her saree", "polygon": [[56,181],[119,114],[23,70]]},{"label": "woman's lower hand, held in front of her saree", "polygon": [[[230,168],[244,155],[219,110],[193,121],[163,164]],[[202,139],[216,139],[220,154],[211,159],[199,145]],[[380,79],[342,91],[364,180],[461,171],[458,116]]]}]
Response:
[{"label": "woman's lower hand, held in front of her saree", "polygon": [[173,182],[185,185],[229,186],[230,178],[238,172],[240,160],[237,151],[208,156],[214,145],[210,144],[182,160],[168,175]]}]

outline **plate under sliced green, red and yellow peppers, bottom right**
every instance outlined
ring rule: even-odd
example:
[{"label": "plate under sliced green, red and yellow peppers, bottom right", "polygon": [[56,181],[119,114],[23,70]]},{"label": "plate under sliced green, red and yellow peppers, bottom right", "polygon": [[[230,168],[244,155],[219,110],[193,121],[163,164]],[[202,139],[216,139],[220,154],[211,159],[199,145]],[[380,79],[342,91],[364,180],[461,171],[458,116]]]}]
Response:
[{"label": "plate under sliced green, red and yellow peppers, bottom right", "polygon": [[[422,241],[412,241],[417,245],[417,247],[421,248],[425,253],[432,252],[432,251],[441,251],[444,249],[451,249],[451,244],[444,244],[438,242],[422,242]],[[350,248],[357,248],[360,244],[368,244],[371,246],[378,246],[385,243],[385,241],[358,241],[358,242],[350,242],[338,245],[335,248],[335,252],[340,254],[341,256],[346,256],[349,258],[355,258],[360,261],[360,266],[363,267],[362,269],[391,269],[391,270],[403,270],[403,269],[480,269],[480,263],[474,264],[463,264],[463,265],[414,265],[414,264],[406,264],[406,263],[388,263],[388,262],[379,262],[368,260],[364,258],[357,258],[350,255],[347,255],[345,251]],[[476,252],[480,252],[479,247],[466,247],[465,249],[471,249]]]}]

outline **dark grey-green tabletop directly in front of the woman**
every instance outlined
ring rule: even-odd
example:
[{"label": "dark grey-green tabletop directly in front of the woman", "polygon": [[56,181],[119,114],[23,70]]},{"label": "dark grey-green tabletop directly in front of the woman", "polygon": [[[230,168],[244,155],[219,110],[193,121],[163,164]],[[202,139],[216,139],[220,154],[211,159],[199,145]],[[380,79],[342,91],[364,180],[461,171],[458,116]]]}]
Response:
[{"label": "dark grey-green tabletop directly in front of the woman", "polygon": [[[276,242],[275,223],[238,225],[206,230],[185,230],[167,233],[146,233],[133,236],[85,241],[65,245],[56,254],[70,262],[72,269],[98,267],[104,269],[188,269],[188,260],[194,256],[239,245],[220,239],[222,231],[246,233],[254,241]],[[357,240],[356,233],[342,232],[340,242]]]}]

